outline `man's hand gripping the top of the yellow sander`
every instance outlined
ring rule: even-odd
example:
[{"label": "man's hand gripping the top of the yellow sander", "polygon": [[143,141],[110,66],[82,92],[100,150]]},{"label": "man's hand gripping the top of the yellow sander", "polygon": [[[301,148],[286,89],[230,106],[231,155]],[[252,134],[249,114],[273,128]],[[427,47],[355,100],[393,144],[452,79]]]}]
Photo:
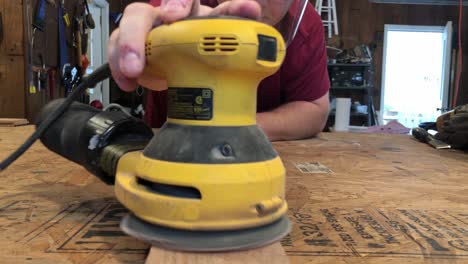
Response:
[{"label": "man's hand gripping the top of the yellow sander", "polygon": [[189,16],[232,15],[260,18],[260,5],[254,0],[232,0],[215,8],[200,5],[200,0],[162,0],[160,7],[133,3],[125,8],[120,26],[109,40],[108,58],[112,76],[124,91],[133,91],[139,84],[160,86],[161,80],[142,76],[145,65],[145,40],[150,30]]}]

